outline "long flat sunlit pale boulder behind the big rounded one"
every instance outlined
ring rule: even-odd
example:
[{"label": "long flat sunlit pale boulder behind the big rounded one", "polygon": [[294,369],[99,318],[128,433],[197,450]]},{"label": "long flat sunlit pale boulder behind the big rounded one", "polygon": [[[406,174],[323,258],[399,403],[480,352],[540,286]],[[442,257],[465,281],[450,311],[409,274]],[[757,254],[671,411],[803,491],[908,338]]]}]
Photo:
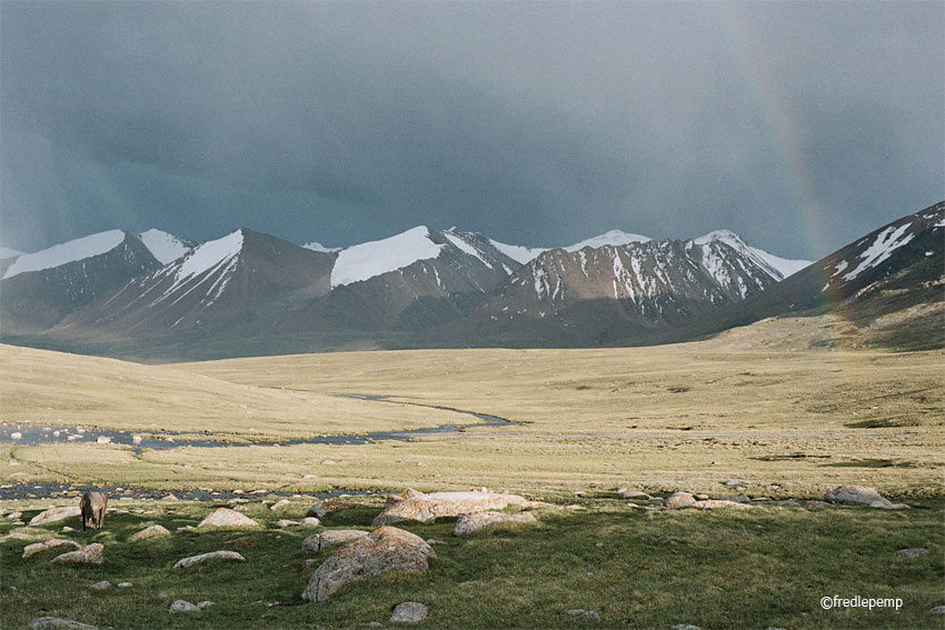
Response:
[{"label": "long flat sunlit pale boulder behind the big rounded one", "polygon": [[545,503],[529,501],[518,494],[505,492],[431,492],[425,494],[407,489],[400,497],[387,500],[384,511],[374,520],[374,526],[400,521],[429,522],[437,517],[458,517],[470,512],[503,510],[508,506],[523,508],[543,507]]}]

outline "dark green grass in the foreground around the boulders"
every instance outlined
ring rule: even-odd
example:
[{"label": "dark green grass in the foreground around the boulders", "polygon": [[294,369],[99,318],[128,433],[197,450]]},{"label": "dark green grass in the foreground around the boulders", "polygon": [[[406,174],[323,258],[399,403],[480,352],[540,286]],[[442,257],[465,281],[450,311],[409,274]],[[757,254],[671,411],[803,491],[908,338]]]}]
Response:
[{"label": "dark green grass in the foreground around the boulders", "polygon": [[[324,526],[367,529],[379,499],[357,501],[328,516]],[[68,534],[83,544],[103,542],[100,567],[52,566],[53,552],[22,561],[23,541],[0,543],[0,613],[4,628],[22,628],[43,614],[99,628],[362,628],[386,622],[401,601],[420,601],[430,608],[420,628],[941,628],[941,618],[928,612],[943,603],[939,502],[895,512],[644,511],[607,498],[579,502],[589,509],[540,510],[536,527],[499,528],[469,539],[451,536],[452,519],[398,526],[446,541],[436,546],[426,574],[390,573],[352,583],[328,602],[304,603],[311,569],[302,569],[299,548],[314,530],[276,529],[286,513],[255,502],[248,513],[265,519],[259,529],[176,533],[130,544],[127,538],[148,524],[173,531],[196,524],[211,506],[121,501],[122,508],[158,513],[109,514],[105,532]],[[298,518],[306,506],[296,500],[287,513]],[[929,553],[915,559],[897,553],[911,547]],[[171,568],[180,558],[217,549],[239,551],[247,562]],[[99,580],[135,587],[84,588]],[[822,610],[819,599],[834,594],[902,598],[904,606],[899,611]],[[175,599],[215,606],[171,614],[167,609]],[[596,610],[600,623],[566,613],[575,608]]]}]

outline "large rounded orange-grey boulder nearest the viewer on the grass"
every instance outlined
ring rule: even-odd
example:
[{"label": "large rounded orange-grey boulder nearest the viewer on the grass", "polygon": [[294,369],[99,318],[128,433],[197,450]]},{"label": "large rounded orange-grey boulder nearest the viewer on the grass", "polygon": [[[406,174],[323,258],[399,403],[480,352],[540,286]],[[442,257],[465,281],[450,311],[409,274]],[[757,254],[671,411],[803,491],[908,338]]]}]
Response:
[{"label": "large rounded orange-grey boulder nearest the viewer on the grass", "polygon": [[387,571],[422,573],[429,568],[429,558],[436,558],[436,551],[419,536],[395,527],[379,527],[322,562],[312,573],[302,599],[326,601],[348,582]]}]

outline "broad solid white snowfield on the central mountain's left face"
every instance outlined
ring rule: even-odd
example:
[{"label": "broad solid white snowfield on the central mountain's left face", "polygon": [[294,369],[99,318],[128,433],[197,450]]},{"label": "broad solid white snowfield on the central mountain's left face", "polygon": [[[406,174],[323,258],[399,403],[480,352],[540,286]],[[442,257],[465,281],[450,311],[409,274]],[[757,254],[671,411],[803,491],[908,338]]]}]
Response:
[{"label": "broad solid white snowfield on the central mountain's left face", "polygon": [[338,253],[331,269],[331,287],[359,282],[418,260],[437,258],[442,248],[430,240],[430,230],[426,226],[379,241],[351,246]]}]

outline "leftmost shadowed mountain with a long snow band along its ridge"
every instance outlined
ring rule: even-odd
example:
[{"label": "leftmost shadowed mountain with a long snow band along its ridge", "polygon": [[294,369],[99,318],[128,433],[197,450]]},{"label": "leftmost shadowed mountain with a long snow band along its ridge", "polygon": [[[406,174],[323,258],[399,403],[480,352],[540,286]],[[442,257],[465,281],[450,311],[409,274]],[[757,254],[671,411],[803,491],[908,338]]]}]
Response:
[{"label": "leftmost shadowed mountain with a long snow band along its ridge", "polygon": [[110,230],[13,259],[0,280],[3,331],[48,329],[160,266],[140,237]]}]

